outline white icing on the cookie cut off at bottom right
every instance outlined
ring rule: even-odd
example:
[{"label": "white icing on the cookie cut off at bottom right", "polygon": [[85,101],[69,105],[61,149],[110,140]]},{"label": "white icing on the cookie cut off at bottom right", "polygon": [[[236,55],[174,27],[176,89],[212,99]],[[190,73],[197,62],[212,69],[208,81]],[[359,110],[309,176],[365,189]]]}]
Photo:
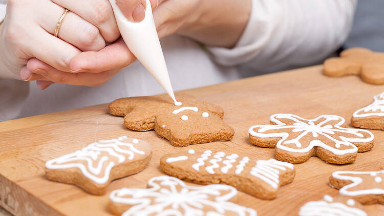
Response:
[{"label": "white icing on the cookie cut off at bottom right", "polygon": [[367,216],[361,209],[349,207],[343,203],[311,201],[300,208],[299,216]]}]

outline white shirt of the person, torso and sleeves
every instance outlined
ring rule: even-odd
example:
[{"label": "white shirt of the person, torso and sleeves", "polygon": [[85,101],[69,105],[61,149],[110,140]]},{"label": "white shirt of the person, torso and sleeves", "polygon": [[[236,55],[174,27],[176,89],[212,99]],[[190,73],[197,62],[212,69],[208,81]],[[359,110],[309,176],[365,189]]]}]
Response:
[{"label": "white shirt of the person, torso and sleeves", "polygon": [[[355,6],[356,0],[252,0],[247,27],[232,49],[205,51],[183,36],[162,38],[174,90],[322,62],[347,38]],[[55,83],[41,91],[34,82],[0,80],[0,121],[163,92],[137,61],[92,88]]]}]

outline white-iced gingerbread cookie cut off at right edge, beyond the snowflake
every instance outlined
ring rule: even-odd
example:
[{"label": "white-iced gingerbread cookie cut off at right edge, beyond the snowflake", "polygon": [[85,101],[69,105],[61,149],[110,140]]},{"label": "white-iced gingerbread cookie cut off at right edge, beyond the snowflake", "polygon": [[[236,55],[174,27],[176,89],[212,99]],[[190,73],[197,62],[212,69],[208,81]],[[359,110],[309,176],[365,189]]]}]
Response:
[{"label": "white-iced gingerbread cookie cut off at right edge, beyond the snowflake", "polygon": [[384,130],[384,92],[373,99],[373,103],[353,113],[352,126]]}]

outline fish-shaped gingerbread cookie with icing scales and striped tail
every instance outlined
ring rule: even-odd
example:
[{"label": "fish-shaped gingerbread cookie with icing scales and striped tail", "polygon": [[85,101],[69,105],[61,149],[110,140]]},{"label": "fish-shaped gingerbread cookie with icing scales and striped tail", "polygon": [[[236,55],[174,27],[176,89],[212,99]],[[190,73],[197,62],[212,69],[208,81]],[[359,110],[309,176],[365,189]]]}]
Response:
[{"label": "fish-shaped gingerbread cookie with icing scales and striped tail", "polygon": [[293,164],[250,160],[247,156],[189,150],[164,155],[161,169],[170,176],[198,184],[227,184],[261,199],[276,197],[280,186],[293,181]]}]

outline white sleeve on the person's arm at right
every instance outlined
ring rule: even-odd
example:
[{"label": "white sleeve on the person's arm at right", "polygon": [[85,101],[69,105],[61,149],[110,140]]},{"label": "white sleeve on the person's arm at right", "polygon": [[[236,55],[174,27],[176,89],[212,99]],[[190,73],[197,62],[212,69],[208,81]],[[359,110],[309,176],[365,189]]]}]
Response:
[{"label": "white sleeve on the person's arm at right", "polygon": [[232,49],[208,47],[224,66],[281,70],[324,60],[342,46],[357,0],[252,0],[248,24]]}]

